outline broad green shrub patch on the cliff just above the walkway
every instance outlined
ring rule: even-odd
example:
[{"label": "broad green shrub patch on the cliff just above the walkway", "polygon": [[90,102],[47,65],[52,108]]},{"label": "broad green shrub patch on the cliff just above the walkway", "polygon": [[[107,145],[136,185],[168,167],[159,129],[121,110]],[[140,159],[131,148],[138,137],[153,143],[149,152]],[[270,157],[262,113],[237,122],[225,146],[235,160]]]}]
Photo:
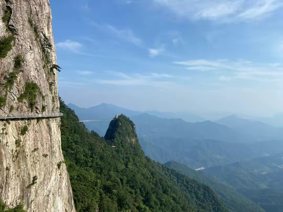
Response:
[{"label": "broad green shrub patch on the cliff just above the walkway", "polygon": [[18,101],[22,102],[24,99],[27,99],[31,111],[33,111],[37,95],[40,95],[43,98],[43,94],[36,83],[25,83],[25,91],[18,97]]}]

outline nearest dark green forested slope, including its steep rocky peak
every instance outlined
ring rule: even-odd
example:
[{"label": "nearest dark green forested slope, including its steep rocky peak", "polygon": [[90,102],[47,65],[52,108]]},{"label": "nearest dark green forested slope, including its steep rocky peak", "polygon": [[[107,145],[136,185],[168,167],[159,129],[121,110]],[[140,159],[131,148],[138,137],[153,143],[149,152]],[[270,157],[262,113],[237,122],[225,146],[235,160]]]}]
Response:
[{"label": "nearest dark green forested slope, including its steep rocky peak", "polygon": [[145,157],[126,116],[112,120],[104,140],[61,99],[60,111],[62,150],[78,212],[228,211],[207,185]]}]

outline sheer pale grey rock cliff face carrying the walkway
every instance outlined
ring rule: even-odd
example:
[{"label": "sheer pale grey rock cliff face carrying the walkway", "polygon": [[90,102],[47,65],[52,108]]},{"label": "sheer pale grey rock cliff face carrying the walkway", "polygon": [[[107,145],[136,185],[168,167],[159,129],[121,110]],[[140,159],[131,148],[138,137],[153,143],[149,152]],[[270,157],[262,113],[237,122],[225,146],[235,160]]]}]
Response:
[{"label": "sheer pale grey rock cliff face carrying the walkway", "polygon": [[[44,109],[48,113],[58,112],[57,70],[50,70],[57,62],[49,0],[0,0],[1,18],[7,8],[12,9],[11,17],[8,26],[0,20],[0,36],[14,34],[15,41],[7,56],[0,58],[0,97],[6,99],[0,114],[42,113]],[[53,51],[40,42],[44,35]],[[50,54],[49,61],[46,52]],[[18,54],[24,61],[20,71],[15,71],[14,59]],[[17,77],[7,88],[5,83],[11,72]],[[36,98],[19,102],[26,83],[32,82],[40,88],[35,92]],[[60,118],[0,120],[0,198],[8,207],[22,203],[29,212],[75,212],[68,172],[62,161]]]}]

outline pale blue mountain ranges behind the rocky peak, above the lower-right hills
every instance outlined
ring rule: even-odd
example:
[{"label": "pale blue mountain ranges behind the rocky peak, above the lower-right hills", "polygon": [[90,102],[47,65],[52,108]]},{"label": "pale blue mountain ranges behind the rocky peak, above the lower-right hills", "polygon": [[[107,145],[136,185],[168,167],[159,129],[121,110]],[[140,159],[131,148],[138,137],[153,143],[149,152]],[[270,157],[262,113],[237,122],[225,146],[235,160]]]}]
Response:
[{"label": "pale blue mountain ranges behind the rocky peak, above the lower-right hills", "polygon": [[[283,149],[283,142],[273,139],[276,136],[280,138],[282,131],[267,124],[259,124],[266,126],[266,129],[272,132],[277,130],[277,134],[273,135],[258,128],[258,122],[237,116],[219,120],[220,123],[227,125],[225,126],[211,121],[190,123],[181,118],[161,118],[111,104],[101,104],[88,109],[72,104],[68,106],[75,110],[80,120],[112,119],[115,114],[120,113],[130,116],[136,124],[136,131],[145,154],[160,163],[175,160],[194,169],[202,166],[208,168],[272,155],[278,153],[280,148]],[[104,136],[109,122],[85,122],[85,125],[88,129]],[[247,134],[244,130],[240,130],[239,126],[242,124],[245,124],[247,129],[251,128],[254,133]],[[260,139],[257,129],[260,129],[264,139]],[[254,141],[260,143],[254,145],[252,144]]]}]

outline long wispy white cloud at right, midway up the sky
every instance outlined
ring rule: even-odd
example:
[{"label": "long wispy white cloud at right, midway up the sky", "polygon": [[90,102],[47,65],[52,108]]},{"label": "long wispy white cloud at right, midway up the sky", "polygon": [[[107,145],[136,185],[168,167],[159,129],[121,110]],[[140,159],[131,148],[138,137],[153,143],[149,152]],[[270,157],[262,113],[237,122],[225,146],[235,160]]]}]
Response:
[{"label": "long wispy white cloud at right, midway up the sky", "polygon": [[248,60],[187,60],[174,62],[186,66],[187,70],[210,71],[220,81],[247,79],[258,81],[278,81],[283,78],[283,66],[280,63],[256,64]]}]

